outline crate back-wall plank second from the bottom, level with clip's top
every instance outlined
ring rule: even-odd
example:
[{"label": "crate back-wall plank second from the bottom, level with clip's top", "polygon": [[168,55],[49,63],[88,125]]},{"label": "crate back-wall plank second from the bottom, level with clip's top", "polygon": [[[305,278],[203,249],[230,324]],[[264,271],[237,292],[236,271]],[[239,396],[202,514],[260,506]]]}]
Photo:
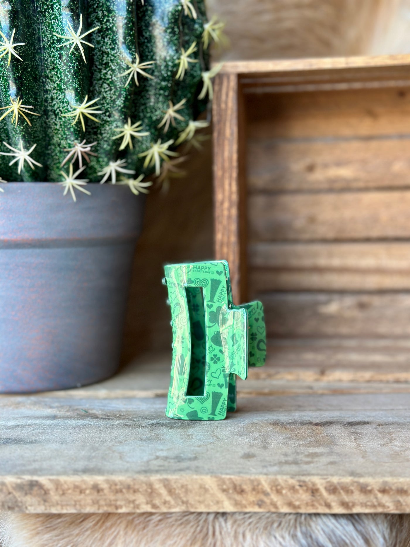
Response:
[{"label": "crate back-wall plank second from the bottom, level with clip's top", "polygon": [[409,290],[410,243],[253,243],[249,293]]}]

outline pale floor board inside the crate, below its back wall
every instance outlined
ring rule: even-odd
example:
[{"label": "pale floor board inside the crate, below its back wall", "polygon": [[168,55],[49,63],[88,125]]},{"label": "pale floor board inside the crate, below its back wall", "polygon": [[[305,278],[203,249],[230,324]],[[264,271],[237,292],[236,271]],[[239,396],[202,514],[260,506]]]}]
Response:
[{"label": "pale floor board inside the crate, below its back wall", "polygon": [[271,339],[266,365],[250,369],[249,381],[238,387],[298,390],[303,383],[324,392],[406,390],[410,339]]}]

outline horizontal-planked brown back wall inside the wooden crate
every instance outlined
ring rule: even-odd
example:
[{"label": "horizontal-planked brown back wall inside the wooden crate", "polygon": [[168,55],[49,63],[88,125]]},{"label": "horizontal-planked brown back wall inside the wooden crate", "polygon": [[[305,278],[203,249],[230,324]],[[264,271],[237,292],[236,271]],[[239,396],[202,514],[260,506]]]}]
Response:
[{"label": "horizontal-planked brown back wall inside the wooden crate", "polygon": [[408,83],[247,103],[249,291],[268,336],[408,336]]}]

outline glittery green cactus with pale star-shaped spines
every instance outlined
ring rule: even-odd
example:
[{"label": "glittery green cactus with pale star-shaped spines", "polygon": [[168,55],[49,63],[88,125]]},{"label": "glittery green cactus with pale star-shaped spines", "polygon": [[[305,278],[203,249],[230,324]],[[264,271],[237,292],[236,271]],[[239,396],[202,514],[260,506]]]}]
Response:
[{"label": "glittery green cactus with pale star-shaped spines", "polygon": [[203,0],[0,0],[2,178],[75,201],[89,181],[138,194],[178,176],[175,147],[209,125],[222,28]]}]

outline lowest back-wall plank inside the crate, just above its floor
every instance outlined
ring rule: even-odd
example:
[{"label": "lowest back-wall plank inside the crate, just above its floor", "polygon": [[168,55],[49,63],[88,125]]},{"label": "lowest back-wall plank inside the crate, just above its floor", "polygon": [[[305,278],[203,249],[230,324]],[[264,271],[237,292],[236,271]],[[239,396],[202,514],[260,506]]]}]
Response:
[{"label": "lowest back-wall plank inside the crate, just above its floor", "polygon": [[272,337],[406,337],[410,293],[266,293]]}]

